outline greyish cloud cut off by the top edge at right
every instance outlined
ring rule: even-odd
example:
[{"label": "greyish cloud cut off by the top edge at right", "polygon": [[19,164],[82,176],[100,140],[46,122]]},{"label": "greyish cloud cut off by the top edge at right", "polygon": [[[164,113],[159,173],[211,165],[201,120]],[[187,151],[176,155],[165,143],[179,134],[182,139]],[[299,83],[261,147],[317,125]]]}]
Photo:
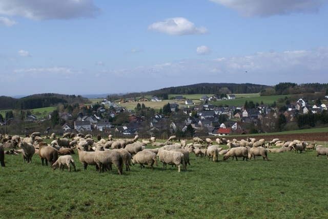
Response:
[{"label": "greyish cloud cut off by the top edge at right", "polygon": [[237,10],[245,16],[272,16],[291,13],[312,13],[325,0],[210,0]]}]

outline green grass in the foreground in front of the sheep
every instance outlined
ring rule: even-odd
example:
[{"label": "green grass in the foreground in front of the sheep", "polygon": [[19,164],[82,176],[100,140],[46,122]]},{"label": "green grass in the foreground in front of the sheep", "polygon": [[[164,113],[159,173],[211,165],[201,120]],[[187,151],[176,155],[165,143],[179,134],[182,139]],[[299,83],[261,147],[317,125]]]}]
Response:
[{"label": "green grass in the foreground in front of the sheep", "polygon": [[269,154],[270,161],[213,163],[191,155],[188,171],[176,168],[99,174],[24,164],[6,156],[0,168],[0,217],[57,218],[327,218],[326,157],[315,152]]}]

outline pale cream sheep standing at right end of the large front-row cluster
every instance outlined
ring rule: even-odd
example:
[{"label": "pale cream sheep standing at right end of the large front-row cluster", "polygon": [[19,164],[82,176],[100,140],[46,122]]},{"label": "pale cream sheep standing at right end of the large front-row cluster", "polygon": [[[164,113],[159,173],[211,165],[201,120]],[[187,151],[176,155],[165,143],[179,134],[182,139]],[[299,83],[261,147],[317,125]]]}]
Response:
[{"label": "pale cream sheep standing at right end of the large front-row cluster", "polygon": [[157,157],[159,161],[163,163],[163,168],[166,169],[167,164],[172,164],[178,166],[178,172],[180,172],[180,165],[182,164],[185,169],[187,169],[185,165],[185,157],[181,152],[171,151],[160,149],[158,151]]}]

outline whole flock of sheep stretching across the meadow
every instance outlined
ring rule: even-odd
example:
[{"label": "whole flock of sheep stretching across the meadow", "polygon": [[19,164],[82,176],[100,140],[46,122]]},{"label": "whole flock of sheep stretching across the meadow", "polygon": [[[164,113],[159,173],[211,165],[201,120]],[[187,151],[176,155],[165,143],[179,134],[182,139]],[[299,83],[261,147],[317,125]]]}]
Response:
[{"label": "whole flock of sheep stretching across the meadow", "polygon": [[[47,138],[52,139],[50,144],[45,142]],[[139,137],[135,136],[134,139],[114,140],[109,135],[108,139],[97,136],[95,142],[92,135],[74,133],[66,133],[61,138],[56,138],[54,133],[50,137],[41,137],[40,133],[32,133],[26,138],[17,135],[0,135],[0,163],[5,166],[5,154],[22,154],[24,162],[27,163],[31,163],[33,155],[37,154],[42,160],[42,165],[48,165],[49,162],[54,169],[59,167],[63,170],[67,166],[70,171],[73,166],[76,170],[71,156],[74,154],[74,149],[77,150],[79,162],[83,164],[84,169],[87,169],[88,165],[93,165],[97,171],[104,172],[112,170],[114,164],[119,174],[122,174],[124,166],[126,171],[129,171],[131,163],[139,164],[141,169],[145,165],[153,169],[153,165],[157,165],[157,160],[163,164],[163,168],[169,164],[176,166],[179,172],[181,166],[187,170],[191,153],[194,153],[196,157],[208,157],[213,161],[218,161],[220,155],[223,156],[223,160],[230,157],[233,160],[237,158],[248,160],[255,157],[268,160],[268,152],[280,153],[295,150],[301,153],[306,149],[316,149],[317,156],[323,155],[328,158],[328,148],[298,140],[284,142],[273,139],[265,142],[264,139],[256,140],[255,138],[240,141],[217,138],[213,142],[210,138],[195,137],[192,143],[187,144],[187,140],[177,143],[176,136],[171,136],[164,143],[156,142],[155,137],[141,141],[138,139]],[[148,144],[152,144],[155,148],[146,148]],[[223,149],[221,146],[226,144],[228,149]]]}]

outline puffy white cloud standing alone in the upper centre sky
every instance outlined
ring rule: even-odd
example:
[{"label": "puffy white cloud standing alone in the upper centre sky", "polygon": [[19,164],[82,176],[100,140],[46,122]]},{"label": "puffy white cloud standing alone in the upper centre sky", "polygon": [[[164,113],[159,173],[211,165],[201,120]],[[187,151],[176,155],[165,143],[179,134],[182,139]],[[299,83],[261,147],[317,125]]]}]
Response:
[{"label": "puffy white cloud standing alone in the upper centre sky", "polygon": [[196,27],[194,23],[184,17],[168,18],[164,21],[159,21],[151,24],[148,29],[161,33],[166,33],[169,35],[189,35],[207,33],[206,28]]}]

